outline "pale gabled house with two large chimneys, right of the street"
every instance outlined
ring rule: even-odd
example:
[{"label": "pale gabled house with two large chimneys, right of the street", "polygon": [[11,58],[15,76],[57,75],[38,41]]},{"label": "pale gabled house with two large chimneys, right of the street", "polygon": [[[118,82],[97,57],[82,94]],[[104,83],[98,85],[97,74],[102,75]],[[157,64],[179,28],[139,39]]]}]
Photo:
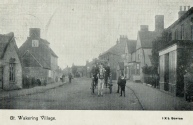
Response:
[{"label": "pale gabled house with two large chimneys, right of the street", "polygon": [[152,42],[164,30],[164,16],[155,16],[155,30],[149,31],[148,25],[141,25],[137,33],[137,40],[125,46],[125,73],[133,81],[144,82],[142,67],[151,66]]}]

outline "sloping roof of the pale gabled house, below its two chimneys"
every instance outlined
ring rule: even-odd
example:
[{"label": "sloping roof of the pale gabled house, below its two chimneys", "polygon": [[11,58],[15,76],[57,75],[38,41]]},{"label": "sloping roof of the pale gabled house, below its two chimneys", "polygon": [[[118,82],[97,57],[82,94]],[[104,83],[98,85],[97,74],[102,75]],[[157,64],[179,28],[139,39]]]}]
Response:
[{"label": "sloping roof of the pale gabled house, below its two chimneys", "polygon": [[161,33],[155,31],[138,31],[141,48],[152,48],[152,41],[159,35],[161,35]]}]

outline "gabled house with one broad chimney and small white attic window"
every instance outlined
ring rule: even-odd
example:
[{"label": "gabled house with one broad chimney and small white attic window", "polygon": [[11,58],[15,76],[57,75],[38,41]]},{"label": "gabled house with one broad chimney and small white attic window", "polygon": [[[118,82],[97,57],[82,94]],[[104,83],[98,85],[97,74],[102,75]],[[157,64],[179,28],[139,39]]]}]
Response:
[{"label": "gabled house with one broad chimney and small white attic window", "polygon": [[58,56],[49,47],[50,43],[40,37],[39,28],[30,28],[30,36],[19,48],[23,74],[47,83],[58,80]]}]

